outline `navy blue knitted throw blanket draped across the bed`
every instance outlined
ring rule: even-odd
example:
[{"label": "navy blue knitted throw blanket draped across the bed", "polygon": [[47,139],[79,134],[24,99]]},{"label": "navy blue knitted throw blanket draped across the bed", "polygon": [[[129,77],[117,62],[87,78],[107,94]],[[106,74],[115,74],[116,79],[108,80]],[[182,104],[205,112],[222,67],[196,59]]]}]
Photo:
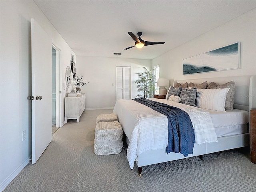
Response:
[{"label": "navy blue knitted throw blanket draped across the bed", "polygon": [[176,107],[152,101],[145,98],[135,98],[136,102],[144,104],[168,118],[168,146],[167,154],[170,152],[181,153],[184,157],[193,154],[195,133],[188,114]]}]

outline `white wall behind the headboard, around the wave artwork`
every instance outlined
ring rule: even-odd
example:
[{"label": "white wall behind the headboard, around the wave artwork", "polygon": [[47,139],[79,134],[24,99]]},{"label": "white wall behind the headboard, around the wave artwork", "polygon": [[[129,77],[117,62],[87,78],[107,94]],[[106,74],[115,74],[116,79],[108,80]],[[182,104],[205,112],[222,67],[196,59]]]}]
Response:
[{"label": "white wall behind the headboard, around the wave artwork", "polygon": [[[235,42],[241,42],[241,68],[200,74],[183,75],[183,59]],[[158,56],[152,66],[160,65],[160,78],[186,80],[256,74],[256,10],[253,9],[194,40]],[[189,83],[189,82],[188,82]]]}]

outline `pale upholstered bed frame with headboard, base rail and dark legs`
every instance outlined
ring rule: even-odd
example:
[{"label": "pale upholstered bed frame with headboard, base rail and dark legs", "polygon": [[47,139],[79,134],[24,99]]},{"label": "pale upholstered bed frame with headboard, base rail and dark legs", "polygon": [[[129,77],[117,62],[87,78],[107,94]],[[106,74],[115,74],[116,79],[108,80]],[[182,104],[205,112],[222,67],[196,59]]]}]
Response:
[{"label": "pale upholstered bed frame with headboard, base rail and dark legs", "polygon": [[[223,78],[208,78],[208,79],[192,79],[192,80],[176,80],[174,85],[185,82],[193,82],[195,84],[200,84],[207,81],[216,82],[217,84],[224,84],[226,82],[234,80],[236,84],[236,92],[234,96],[234,108],[250,111],[256,108],[256,76],[233,76],[233,77],[223,77]],[[249,91],[250,90],[250,91]],[[249,102],[250,101],[250,102]],[[129,145],[129,140],[126,137],[126,142]],[[168,162],[172,160],[178,160],[183,158],[189,158],[193,156],[198,156],[202,159],[204,154],[230,150],[234,148],[241,148],[250,145],[250,134],[238,134],[232,136],[224,136],[218,138],[218,143],[204,143],[204,144],[194,144],[193,154],[189,154],[184,157],[180,153],[171,152],[166,154],[166,149],[162,150],[150,150],[137,155],[136,164],[138,166],[138,173],[141,176],[142,167],[157,164],[162,162]],[[152,158],[153,157],[153,158]]]}]

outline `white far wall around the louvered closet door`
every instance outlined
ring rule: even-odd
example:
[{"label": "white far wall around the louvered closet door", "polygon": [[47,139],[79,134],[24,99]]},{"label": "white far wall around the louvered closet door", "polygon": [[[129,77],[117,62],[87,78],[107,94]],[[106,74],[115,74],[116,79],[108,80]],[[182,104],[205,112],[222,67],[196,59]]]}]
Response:
[{"label": "white far wall around the louvered closet door", "polygon": [[116,103],[116,66],[132,67],[132,98],[138,94],[136,73],[144,72],[142,67],[150,70],[151,60],[124,59],[108,57],[77,56],[77,75],[83,76],[84,82],[89,82],[81,88],[86,93],[86,109],[113,108]]}]

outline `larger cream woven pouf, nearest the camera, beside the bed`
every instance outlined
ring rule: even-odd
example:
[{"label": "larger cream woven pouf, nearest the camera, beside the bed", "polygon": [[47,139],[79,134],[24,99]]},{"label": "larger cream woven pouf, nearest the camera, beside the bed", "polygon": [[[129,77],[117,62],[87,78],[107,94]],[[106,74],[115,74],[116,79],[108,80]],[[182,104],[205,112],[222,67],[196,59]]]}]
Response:
[{"label": "larger cream woven pouf, nearest the camera, beside the bed", "polygon": [[123,147],[123,129],[118,121],[99,122],[95,128],[94,153],[96,155],[118,154]]}]

